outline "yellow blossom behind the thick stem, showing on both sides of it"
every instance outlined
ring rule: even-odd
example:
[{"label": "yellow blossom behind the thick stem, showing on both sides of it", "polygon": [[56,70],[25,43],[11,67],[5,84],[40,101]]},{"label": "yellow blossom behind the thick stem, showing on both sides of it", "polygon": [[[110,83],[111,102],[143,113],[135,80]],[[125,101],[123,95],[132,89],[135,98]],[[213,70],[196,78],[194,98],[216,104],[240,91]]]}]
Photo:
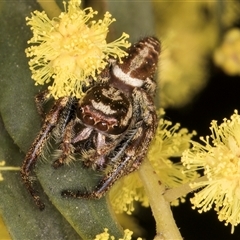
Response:
[{"label": "yellow blossom behind the thick stem, showing on both sides of it", "polygon": [[[180,124],[171,125],[170,121],[163,118],[159,120],[155,138],[147,154],[159,181],[169,188],[180,186],[198,176],[196,172],[184,174],[184,167],[170,160],[173,157],[181,157],[182,152],[189,148],[190,139],[195,132],[188,133],[187,129],[180,129]],[[112,187],[110,199],[116,213],[131,214],[134,211],[134,201],[141,202],[145,207],[149,206],[148,197],[137,172],[120,179]],[[178,201],[175,202],[177,203]]]}]

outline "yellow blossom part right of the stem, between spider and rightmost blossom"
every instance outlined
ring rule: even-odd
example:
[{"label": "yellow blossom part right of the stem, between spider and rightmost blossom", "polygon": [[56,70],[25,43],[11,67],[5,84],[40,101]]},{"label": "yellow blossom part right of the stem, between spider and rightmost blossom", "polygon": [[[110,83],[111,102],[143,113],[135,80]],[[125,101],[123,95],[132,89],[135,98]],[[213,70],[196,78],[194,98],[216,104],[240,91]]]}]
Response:
[{"label": "yellow blossom part right of the stem, between spider and rightmost blossom", "polygon": [[165,186],[176,187],[196,177],[195,173],[183,174],[183,166],[170,160],[182,156],[194,135],[195,131],[188,133],[186,128],[180,129],[180,124],[172,126],[172,122],[160,119],[157,133],[149,148],[148,159]]}]

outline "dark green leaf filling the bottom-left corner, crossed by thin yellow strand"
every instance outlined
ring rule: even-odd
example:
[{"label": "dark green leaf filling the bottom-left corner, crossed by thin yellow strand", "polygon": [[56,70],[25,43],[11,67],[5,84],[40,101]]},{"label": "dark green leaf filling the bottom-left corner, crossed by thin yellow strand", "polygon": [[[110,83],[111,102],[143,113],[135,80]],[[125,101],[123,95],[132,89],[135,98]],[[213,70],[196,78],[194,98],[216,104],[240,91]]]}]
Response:
[{"label": "dark green leaf filling the bottom-left corner, crossed by thin yellow strand", "polygon": [[[6,132],[0,118],[0,160],[17,166],[24,158]],[[12,239],[80,239],[78,234],[44,197],[46,210],[40,212],[24,188],[19,171],[2,172],[0,213]]]}]

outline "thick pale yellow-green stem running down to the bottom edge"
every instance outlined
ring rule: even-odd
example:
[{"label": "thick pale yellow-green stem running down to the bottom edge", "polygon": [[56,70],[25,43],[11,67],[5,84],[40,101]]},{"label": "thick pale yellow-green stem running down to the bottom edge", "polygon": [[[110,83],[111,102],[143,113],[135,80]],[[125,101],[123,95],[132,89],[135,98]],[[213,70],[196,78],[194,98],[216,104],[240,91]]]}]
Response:
[{"label": "thick pale yellow-green stem running down to the bottom edge", "polygon": [[170,204],[163,197],[165,187],[159,181],[151,163],[147,159],[141,165],[138,173],[156,221],[157,234],[155,240],[183,239],[173,218]]}]

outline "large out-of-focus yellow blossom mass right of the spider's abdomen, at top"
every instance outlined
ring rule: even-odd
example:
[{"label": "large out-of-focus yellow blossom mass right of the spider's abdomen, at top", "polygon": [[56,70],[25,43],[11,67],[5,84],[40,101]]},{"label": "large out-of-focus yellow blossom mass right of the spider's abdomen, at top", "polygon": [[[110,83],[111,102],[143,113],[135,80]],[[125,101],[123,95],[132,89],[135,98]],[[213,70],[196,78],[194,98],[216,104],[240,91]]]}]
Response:
[{"label": "large out-of-focus yellow blossom mass right of the spider's abdomen, at top", "polygon": [[163,46],[158,75],[161,106],[181,107],[205,87],[207,56],[216,47],[220,31],[239,19],[240,3],[153,1],[153,6]]}]

